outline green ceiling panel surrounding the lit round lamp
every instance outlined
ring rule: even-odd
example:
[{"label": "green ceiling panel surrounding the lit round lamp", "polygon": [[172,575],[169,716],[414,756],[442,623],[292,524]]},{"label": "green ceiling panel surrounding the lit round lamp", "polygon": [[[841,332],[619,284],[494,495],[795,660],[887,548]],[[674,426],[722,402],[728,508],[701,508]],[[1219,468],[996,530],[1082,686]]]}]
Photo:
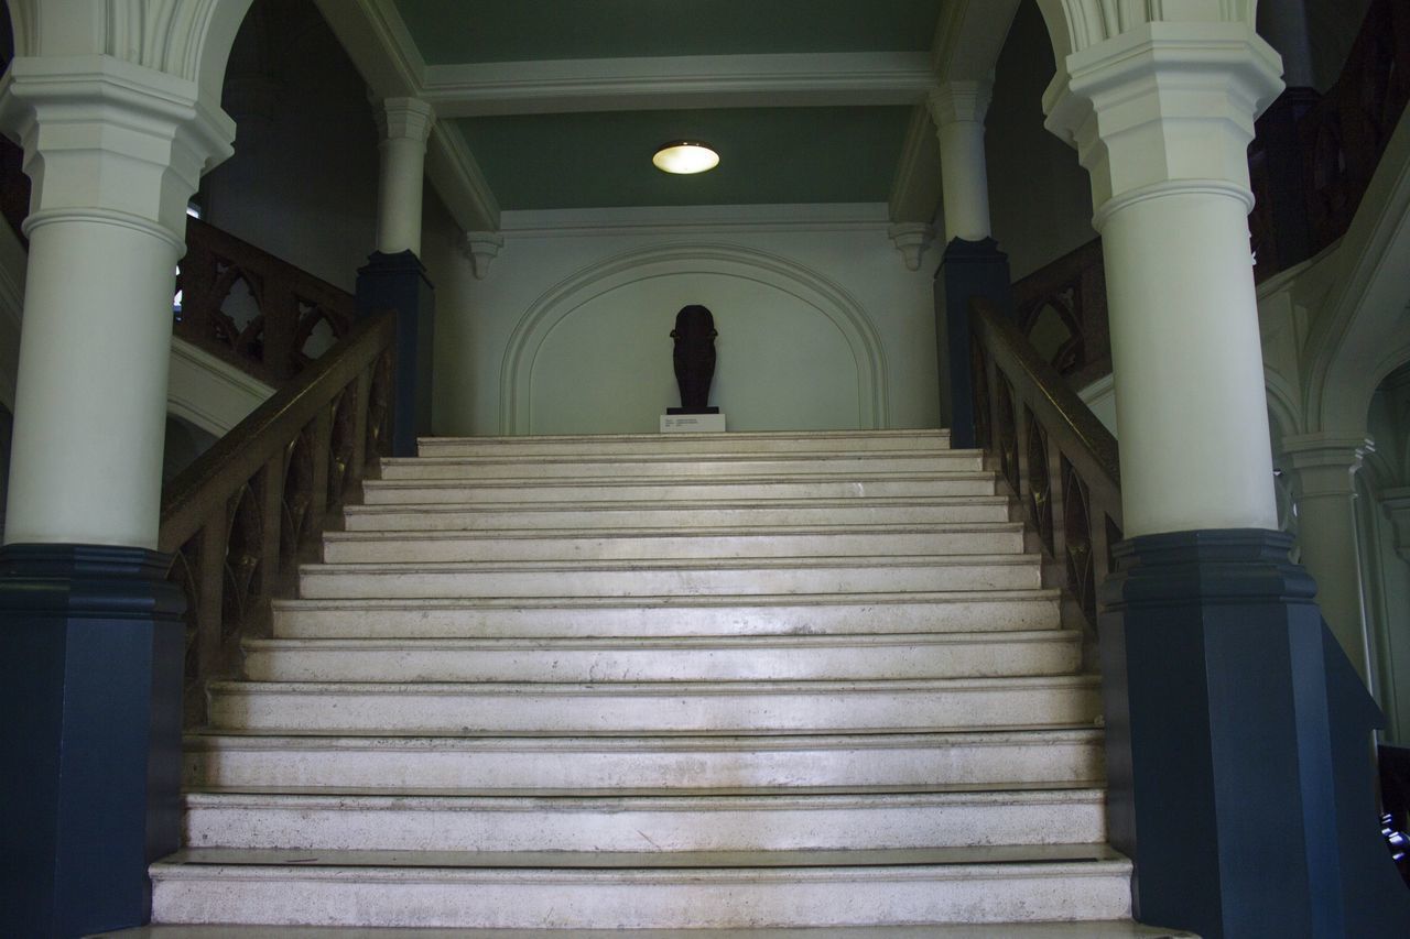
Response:
[{"label": "green ceiling panel surrounding the lit round lamp", "polygon": [[[506,210],[885,202],[908,107],[611,111],[457,124]],[[671,176],[660,144],[705,140],[715,169]]]}]

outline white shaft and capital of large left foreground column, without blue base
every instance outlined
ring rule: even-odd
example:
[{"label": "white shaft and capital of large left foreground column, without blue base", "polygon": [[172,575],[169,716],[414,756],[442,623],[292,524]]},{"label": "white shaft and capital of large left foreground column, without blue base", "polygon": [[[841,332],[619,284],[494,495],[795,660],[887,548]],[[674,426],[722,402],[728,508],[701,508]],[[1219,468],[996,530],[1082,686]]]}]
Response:
[{"label": "white shaft and capital of large left foreground column, without blue base", "polygon": [[109,56],[16,59],[0,123],[34,180],[6,543],[155,548],[186,203],[234,124]]}]

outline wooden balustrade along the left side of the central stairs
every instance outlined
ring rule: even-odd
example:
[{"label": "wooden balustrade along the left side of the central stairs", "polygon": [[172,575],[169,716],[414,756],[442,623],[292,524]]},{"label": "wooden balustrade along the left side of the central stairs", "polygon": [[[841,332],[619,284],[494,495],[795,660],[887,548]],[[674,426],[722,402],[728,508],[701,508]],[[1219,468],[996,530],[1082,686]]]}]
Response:
[{"label": "wooden balustrade along the left side of the central stairs", "polygon": [[162,492],[159,550],[186,594],[186,719],[204,682],[233,674],[243,636],[268,634],[324,520],[392,440],[395,313],[358,321]]}]

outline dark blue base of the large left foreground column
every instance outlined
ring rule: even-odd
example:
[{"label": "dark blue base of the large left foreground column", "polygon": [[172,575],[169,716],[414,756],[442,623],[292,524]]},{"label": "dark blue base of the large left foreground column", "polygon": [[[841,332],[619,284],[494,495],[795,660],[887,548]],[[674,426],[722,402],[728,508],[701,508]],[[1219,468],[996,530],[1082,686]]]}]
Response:
[{"label": "dark blue base of the large left foreground column", "polygon": [[0,935],[151,915],[180,845],[185,598],[154,551],[0,550]]}]

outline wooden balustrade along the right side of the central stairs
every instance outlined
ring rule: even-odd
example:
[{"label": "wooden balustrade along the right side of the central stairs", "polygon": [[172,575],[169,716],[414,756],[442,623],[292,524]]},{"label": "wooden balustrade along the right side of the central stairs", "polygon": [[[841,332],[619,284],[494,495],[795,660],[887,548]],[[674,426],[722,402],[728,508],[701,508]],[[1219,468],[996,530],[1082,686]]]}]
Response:
[{"label": "wooden balustrade along the right side of the central stairs", "polygon": [[1097,588],[1121,540],[1117,440],[1003,313],[976,299],[970,326],[977,446],[1024,506],[1045,581],[1066,585],[1065,620],[1080,612],[1094,629]]}]

